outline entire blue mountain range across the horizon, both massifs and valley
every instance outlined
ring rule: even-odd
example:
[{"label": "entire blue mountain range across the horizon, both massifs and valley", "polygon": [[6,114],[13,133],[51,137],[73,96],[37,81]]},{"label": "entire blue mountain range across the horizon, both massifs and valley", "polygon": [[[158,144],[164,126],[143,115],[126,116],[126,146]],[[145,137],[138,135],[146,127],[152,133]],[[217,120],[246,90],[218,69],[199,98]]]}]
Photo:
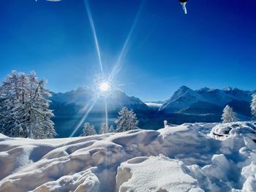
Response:
[{"label": "entire blue mountain range across the horizon, both massifs and valley", "polygon": [[[134,96],[127,96],[124,92],[116,90],[108,95],[108,120],[114,124],[121,107],[134,110],[140,120],[140,128],[161,128],[163,120],[170,123],[181,124],[185,122],[219,122],[222,110],[226,104],[233,107],[238,118],[248,120],[251,118],[249,103],[253,91],[242,91],[237,88],[210,89],[201,88],[192,90],[182,86],[173,96],[165,102],[143,102]],[[55,118],[55,128],[59,137],[69,137],[72,128],[94,103],[95,93],[91,88],[78,88],[67,93],[53,93],[50,108]],[[99,129],[105,122],[105,98],[99,97],[89,112],[86,122],[94,124]],[[80,129],[78,130],[78,134]],[[76,134],[76,135],[78,135]]]}]

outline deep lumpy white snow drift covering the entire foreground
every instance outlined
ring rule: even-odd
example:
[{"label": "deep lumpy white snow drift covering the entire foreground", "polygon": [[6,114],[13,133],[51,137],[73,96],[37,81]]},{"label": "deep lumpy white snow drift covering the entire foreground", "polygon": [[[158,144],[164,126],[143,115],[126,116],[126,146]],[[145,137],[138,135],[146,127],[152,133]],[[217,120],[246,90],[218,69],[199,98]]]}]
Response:
[{"label": "deep lumpy white snow drift covering the entire foreground", "polygon": [[0,135],[0,191],[256,191],[256,124],[68,139]]}]

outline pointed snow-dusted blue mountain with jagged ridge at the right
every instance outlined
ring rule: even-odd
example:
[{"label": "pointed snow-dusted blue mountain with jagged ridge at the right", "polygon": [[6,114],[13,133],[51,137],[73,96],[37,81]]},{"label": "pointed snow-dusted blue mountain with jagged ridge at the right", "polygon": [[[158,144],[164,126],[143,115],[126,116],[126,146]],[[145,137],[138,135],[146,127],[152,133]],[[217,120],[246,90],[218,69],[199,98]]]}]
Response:
[{"label": "pointed snow-dusted blue mountain with jagged ridge at the right", "polygon": [[238,88],[192,90],[186,86],[178,88],[167,99],[159,112],[165,114],[221,115],[223,107],[229,104],[241,117],[250,117],[249,103],[255,91],[242,91]]}]

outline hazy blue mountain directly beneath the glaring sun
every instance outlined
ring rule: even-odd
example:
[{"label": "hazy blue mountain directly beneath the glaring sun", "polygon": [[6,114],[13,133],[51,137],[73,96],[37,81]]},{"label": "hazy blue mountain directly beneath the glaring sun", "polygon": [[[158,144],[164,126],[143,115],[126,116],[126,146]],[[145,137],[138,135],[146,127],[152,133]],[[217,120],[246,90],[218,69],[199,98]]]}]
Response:
[{"label": "hazy blue mountain directly beneath the glaring sun", "polygon": [[[67,93],[52,93],[50,98],[50,109],[53,110],[55,117],[53,122],[59,137],[69,137],[72,128],[77,126],[89,108],[93,106],[85,121],[89,121],[99,129],[105,122],[105,101],[108,108],[109,123],[113,124],[122,107],[133,110],[143,123],[145,117],[153,110],[143,101],[134,97],[127,96],[124,92],[116,89],[108,93],[107,97],[99,96],[91,88],[78,88]],[[97,101],[95,101],[97,99]],[[78,134],[79,134],[78,130]]]}]

